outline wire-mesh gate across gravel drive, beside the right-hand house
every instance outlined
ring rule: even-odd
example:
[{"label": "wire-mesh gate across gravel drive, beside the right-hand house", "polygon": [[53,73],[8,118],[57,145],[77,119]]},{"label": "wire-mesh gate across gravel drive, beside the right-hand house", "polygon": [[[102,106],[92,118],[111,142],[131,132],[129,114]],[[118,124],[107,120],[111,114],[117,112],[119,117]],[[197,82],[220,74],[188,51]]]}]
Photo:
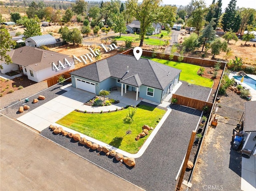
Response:
[{"label": "wire-mesh gate across gravel drive, beside the right-hand house", "polygon": [[214,104],[213,113],[219,116],[218,120],[220,122],[230,125],[241,124],[244,118],[243,110],[222,104]]}]

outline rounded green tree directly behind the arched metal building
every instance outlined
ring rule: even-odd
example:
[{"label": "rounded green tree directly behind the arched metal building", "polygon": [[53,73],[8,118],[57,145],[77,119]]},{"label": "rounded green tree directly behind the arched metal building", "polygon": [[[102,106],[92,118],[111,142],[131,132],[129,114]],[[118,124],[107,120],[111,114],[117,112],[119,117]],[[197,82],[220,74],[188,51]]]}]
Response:
[{"label": "rounded green tree directly behind the arched metal building", "polygon": [[38,36],[42,35],[41,28],[38,24],[38,22],[34,19],[28,20],[26,23],[26,29],[24,29],[24,36],[25,38],[31,37],[31,36]]}]

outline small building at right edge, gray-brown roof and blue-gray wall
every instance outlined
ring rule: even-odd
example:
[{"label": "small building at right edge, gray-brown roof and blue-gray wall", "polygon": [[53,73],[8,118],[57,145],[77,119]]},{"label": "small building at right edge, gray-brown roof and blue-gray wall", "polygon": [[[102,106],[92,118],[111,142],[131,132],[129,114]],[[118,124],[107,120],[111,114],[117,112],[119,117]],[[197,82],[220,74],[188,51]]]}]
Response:
[{"label": "small building at right edge, gray-brown roof and blue-gray wall", "polygon": [[244,102],[244,146],[242,154],[256,154],[256,101]]}]

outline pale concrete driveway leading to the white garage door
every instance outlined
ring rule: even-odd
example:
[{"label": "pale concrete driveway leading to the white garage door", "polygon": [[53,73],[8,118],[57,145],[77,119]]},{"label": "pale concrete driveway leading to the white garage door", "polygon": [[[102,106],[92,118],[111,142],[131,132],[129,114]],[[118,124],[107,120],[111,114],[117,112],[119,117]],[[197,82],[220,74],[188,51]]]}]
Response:
[{"label": "pale concrete driveway leading to the white garage door", "polygon": [[95,96],[71,86],[64,90],[67,92],[20,116],[17,120],[41,132]]}]

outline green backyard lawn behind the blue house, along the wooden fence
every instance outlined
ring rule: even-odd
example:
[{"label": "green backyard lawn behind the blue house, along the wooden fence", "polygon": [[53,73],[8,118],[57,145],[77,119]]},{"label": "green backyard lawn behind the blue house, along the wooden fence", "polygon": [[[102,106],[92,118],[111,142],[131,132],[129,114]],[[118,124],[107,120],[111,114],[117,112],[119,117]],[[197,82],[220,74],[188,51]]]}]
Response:
[{"label": "green backyard lawn behind the blue house, along the wooden fence", "polygon": [[174,61],[162,60],[157,58],[148,58],[148,59],[182,70],[182,72],[180,73],[180,80],[182,81],[186,81],[190,84],[199,85],[199,86],[208,87],[208,88],[212,88],[213,86],[212,79],[204,78],[197,74],[197,71],[200,68],[200,66],[198,65],[182,63],[182,62],[177,63]]}]

